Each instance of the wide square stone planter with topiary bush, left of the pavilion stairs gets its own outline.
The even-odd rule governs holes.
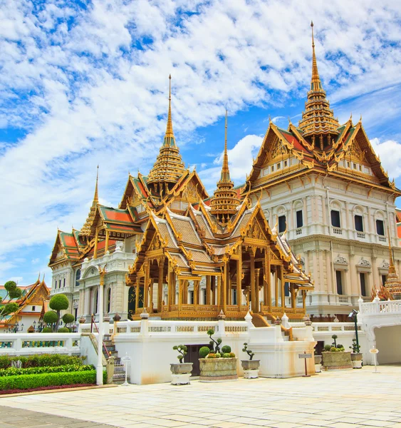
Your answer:
[[[209,347],[203,346],[199,350],[199,368],[201,382],[216,382],[221,380],[238,379],[236,374],[236,357],[231,347],[225,345],[220,350],[222,339],[214,340],[214,330],[207,331],[210,338]]]

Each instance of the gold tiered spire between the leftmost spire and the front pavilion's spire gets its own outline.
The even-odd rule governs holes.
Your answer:
[[[182,162],[179,149],[175,143],[174,132],[172,131],[171,74],[169,80],[169,110],[165,138],[160,148],[160,153],[157,155],[156,162],[147,178],[147,184],[152,195],[160,198],[162,193],[166,194],[171,190],[175,183],[177,183],[177,180],[187,171]]]

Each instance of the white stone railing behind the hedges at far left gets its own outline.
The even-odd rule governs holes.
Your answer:
[[[0,355],[80,354],[80,333],[0,334]]]

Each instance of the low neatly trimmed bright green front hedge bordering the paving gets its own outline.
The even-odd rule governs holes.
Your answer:
[[[104,376],[103,376],[104,378]],[[34,389],[72,384],[95,384],[96,370],[68,373],[19,374],[0,377],[0,390]]]

